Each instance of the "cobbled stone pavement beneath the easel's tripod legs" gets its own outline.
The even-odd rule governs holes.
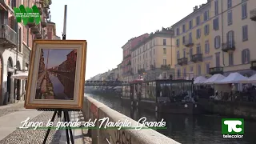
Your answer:
[[[46,135],[46,130],[17,129],[21,122],[30,117],[30,122],[43,122],[44,126],[52,117],[54,112],[42,112],[37,110],[26,110],[23,108],[24,102],[16,103],[8,106],[0,106],[0,144],[41,144]],[[74,120],[75,114],[71,112],[70,118]],[[74,114],[74,115],[72,115]],[[63,114],[62,114],[63,115]],[[58,122],[57,116],[54,119],[54,126]],[[64,133],[62,133],[64,131]],[[81,133],[81,129],[74,130],[74,139],[76,144],[90,144],[91,139],[85,138]],[[66,138],[65,130],[50,130],[46,143],[58,144],[63,143]],[[87,141],[82,141],[86,139]],[[65,142],[66,143],[66,142]]]

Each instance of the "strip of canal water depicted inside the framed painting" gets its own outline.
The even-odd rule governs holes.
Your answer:
[[[59,81],[57,75],[49,73],[49,78],[54,86],[54,99],[67,99],[67,96],[64,93],[64,86],[62,85],[62,82]]]

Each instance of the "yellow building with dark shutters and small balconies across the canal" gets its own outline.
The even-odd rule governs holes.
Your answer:
[[[175,78],[191,79],[209,73],[214,54],[211,11],[210,1],[195,6],[191,14],[172,26],[177,54]]]

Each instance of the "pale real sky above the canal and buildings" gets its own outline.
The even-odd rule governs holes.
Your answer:
[[[66,39],[87,41],[86,79],[116,68],[130,38],[170,27],[207,0],[53,0],[51,22],[62,36],[67,5]]]

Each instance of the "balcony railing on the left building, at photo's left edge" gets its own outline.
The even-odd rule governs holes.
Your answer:
[[[0,38],[6,38],[7,41],[17,45],[17,33],[8,25],[2,25],[0,29]]]

